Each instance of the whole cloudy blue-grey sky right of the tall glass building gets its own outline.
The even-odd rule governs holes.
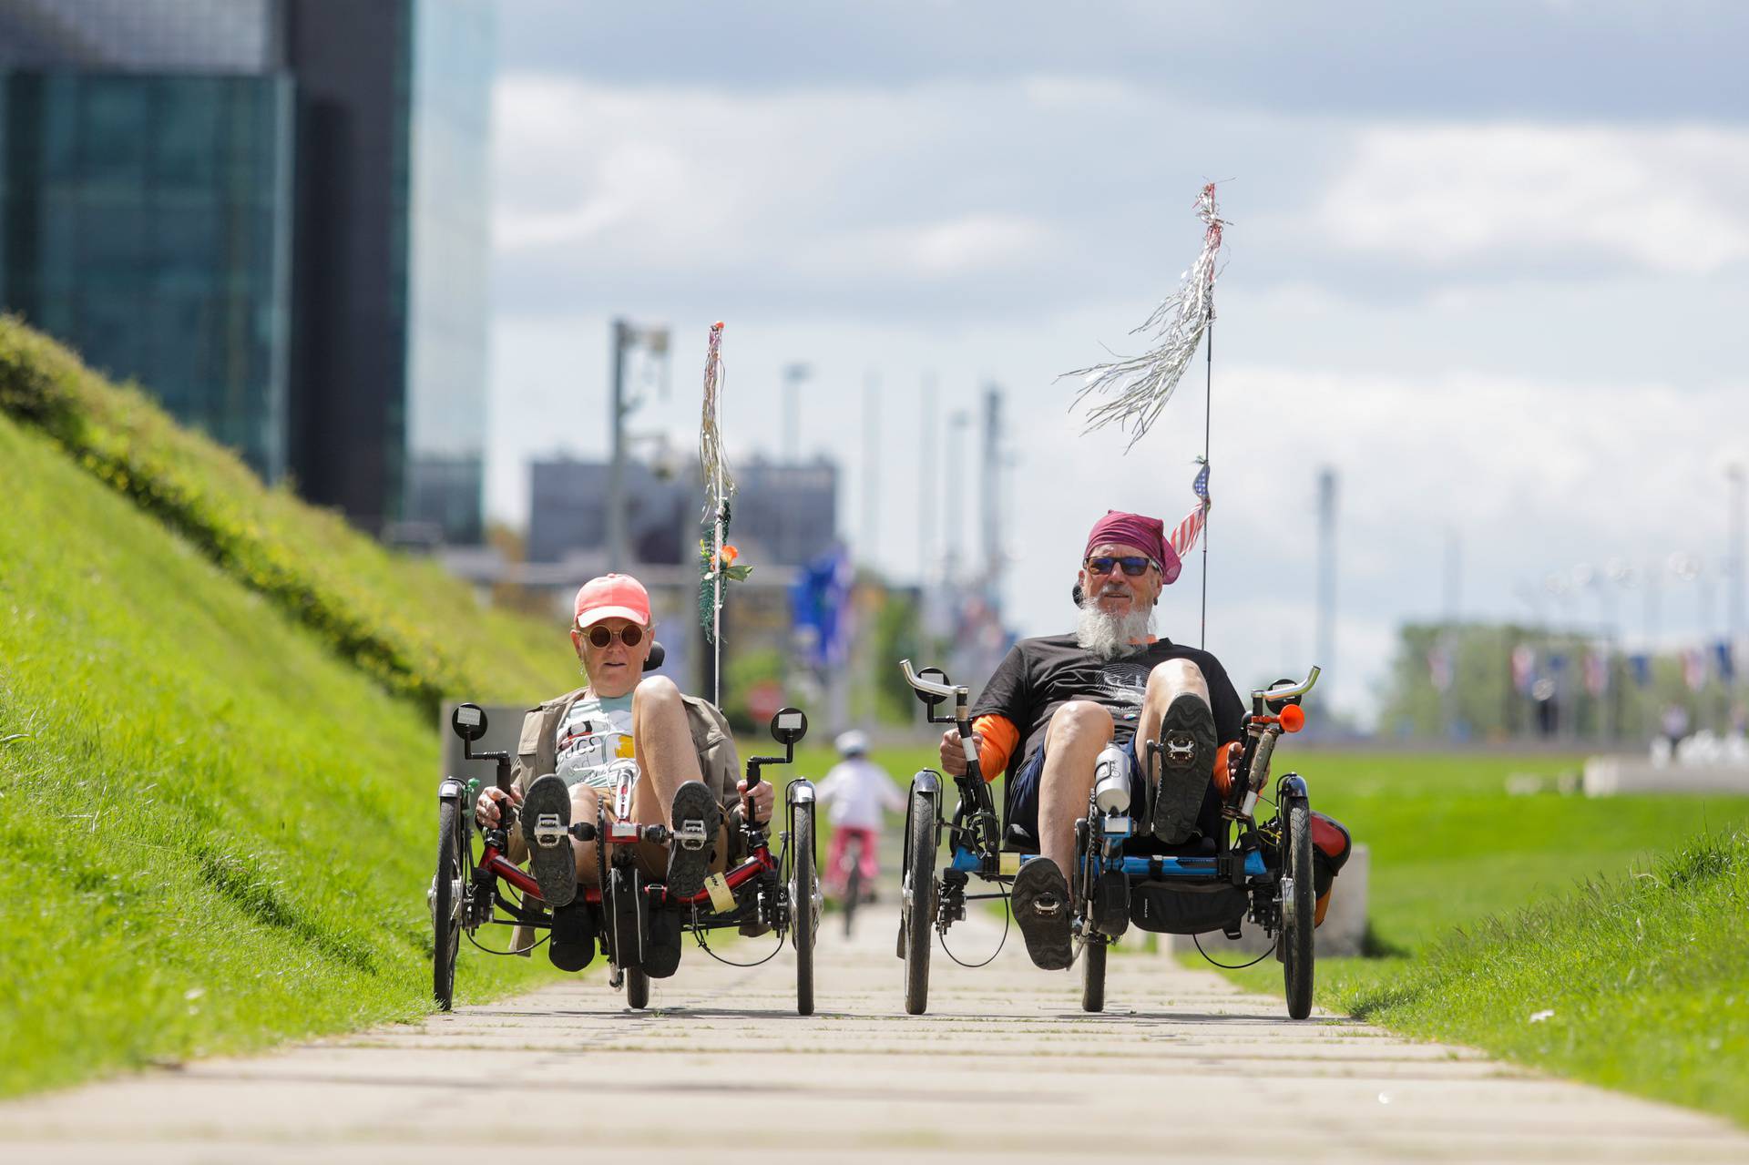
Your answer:
[[[504,3],[491,513],[525,520],[528,457],[607,451],[616,315],[673,329],[672,392],[633,427],[691,450],[721,318],[731,458],[780,453],[808,364],[801,451],[838,458],[843,530],[899,579],[939,565],[941,492],[974,479],[943,464],[974,453],[948,418],[999,385],[1009,619],[1060,631],[1093,518],[1189,507],[1203,383],[1198,359],[1125,455],[1056,374],[1140,350],[1217,180],[1209,642],[1235,679],[1312,661],[1326,465],[1320,663],[1359,715],[1397,624],[1452,605],[1718,637],[1749,460],[1749,9],[1425,7]],[[1613,560],[1634,589],[1548,588]],[[1196,556],[1163,633],[1196,642],[1200,582]]]

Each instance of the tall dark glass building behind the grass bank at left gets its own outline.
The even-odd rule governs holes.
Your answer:
[[[0,0],[0,306],[269,481],[477,542],[484,0]]]

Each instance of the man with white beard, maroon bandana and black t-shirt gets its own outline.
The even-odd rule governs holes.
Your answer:
[[[1126,754],[1130,803],[1154,806],[1132,852],[1182,852],[1219,829],[1224,782],[1214,777],[1219,768],[1224,778],[1228,750],[1217,745],[1240,738],[1245,707],[1212,654],[1153,635],[1154,602],[1179,570],[1158,518],[1107,511],[1081,556],[1076,631],[1014,644],[972,705],[983,775],[1007,770],[1009,826],[1039,843],[1041,857],[1014,876],[1011,903],[1041,967],[1072,959],[1063,871],[1074,866],[1074,822],[1086,813],[1105,745]],[[1163,752],[1160,771],[1144,771],[1137,740],[1172,742],[1177,759]],[[965,771],[955,731],[941,736],[941,766]]]

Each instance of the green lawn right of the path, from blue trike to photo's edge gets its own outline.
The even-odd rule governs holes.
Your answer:
[[[1284,766],[1371,847],[1383,957],[1320,960],[1320,1006],[1749,1121],[1749,1057],[1725,1055],[1749,1041],[1749,798],[1562,796],[1576,757]],[[1544,792],[1509,796],[1513,773]],[[1231,978],[1282,990],[1275,960]]]

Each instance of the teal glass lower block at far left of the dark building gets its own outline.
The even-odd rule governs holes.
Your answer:
[[[0,87],[0,301],[278,479],[289,80],[16,70]]]

